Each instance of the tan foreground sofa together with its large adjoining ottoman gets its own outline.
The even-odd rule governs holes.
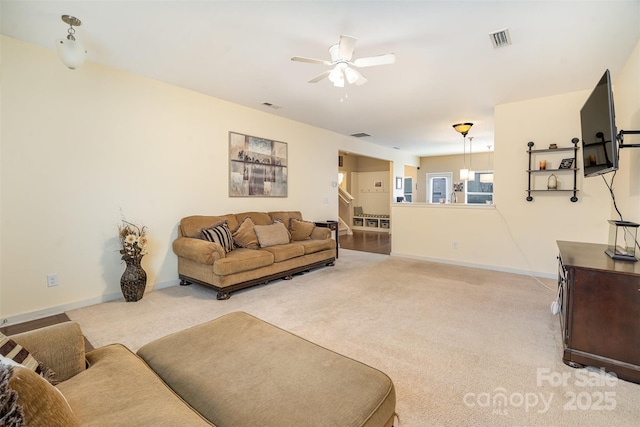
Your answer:
[[[137,354],[120,344],[85,354],[74,322],[11,338],[60,381],[13,368],[28,426],[389,427],[395,417],[385,374],[243,312]]]

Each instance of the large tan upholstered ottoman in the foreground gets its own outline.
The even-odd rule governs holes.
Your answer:
[[[391,379],[249,314],[236,312],[138,351],[218,427],[391,426]]]

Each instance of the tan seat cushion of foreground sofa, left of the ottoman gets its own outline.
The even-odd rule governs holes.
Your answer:
[[[83,426],[211,426],[125,346],[100,347],[87,360],[58,385]]]

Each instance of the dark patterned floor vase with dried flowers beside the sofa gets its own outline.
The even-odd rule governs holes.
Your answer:
[[[120,278],[120,288],[125,301],[135,302],[142,299],[147,287],[147,273],[140,265],[142,257],[147,254],[147,227],[138,227],[123,220],[118,231],[122,245],[120,254],[127,264]]]

